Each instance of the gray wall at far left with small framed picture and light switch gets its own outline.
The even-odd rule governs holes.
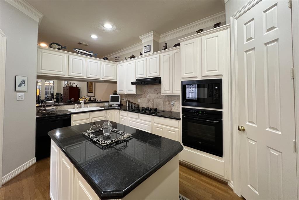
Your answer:
[[[36,21],[0,1],[0,28],[7,37],[2,176],[35,157]],[[16,101],[15,76],[28,77],[25,100]]]

